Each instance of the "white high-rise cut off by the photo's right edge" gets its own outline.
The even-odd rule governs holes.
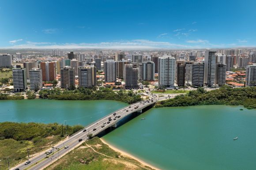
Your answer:
[[[246,67],[245,85],[256,86],[256,63]]]

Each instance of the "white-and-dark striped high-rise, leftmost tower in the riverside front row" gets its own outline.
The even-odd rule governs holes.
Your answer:
[[[14,92],[23,92],[27,89],[26,69],[13,68],[12,78]]]

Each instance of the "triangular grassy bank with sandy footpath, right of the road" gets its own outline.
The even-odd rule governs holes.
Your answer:
[[[88,147],[87,144],[96,152]],[[143,165],[135,159],[120,155],[119,152],[115,152],[102,143],[98,137],[94,137],[69,152],[45,170],[151,170],[150,167],[141,166]]]

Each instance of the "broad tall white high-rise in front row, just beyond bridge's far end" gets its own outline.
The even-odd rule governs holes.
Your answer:
[[[174,87],[175,58],[163,55],[158,59],[158,85],[160,87]]]

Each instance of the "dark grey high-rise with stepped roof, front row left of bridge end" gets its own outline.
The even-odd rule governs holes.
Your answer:
[[[124,65],[125,89],[137,89],[139,68],[133,68],[132,64]]]

